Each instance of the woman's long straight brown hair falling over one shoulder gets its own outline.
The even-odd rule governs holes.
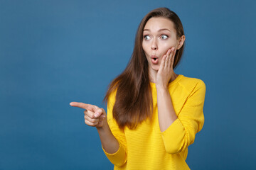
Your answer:
[[[124,72],[111,81],[104,98],[104,101],[108,101],[110,94],[117,89],[112,113],[120,129],[126,126],[134,129],[146,118],[152,118],[153,101],[148,72],[149,64],[142,48],[144,26],[152,17],[169,18],[174,23],[177,38],[184,35],[180,19],[169,8],[156,8],[144,16],[137,30],[132,57]],[[183,47],[184,45],[176,51],[174,68],[181,60]]]

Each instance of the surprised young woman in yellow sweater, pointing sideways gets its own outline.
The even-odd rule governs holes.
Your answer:
[[[176,74],[185,35],[173,11],[156,8],[139,24],[127,68],[107,91],[103,108],[84,108],[114,169],[189,169],[188,146],[203,128],[206,85]],[[107,117],[107,119],[106,119]]]

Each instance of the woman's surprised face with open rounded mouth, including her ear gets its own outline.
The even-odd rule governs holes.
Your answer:
[[[168,18],[153,17],[146,22],[142,48],[149,62],[149,72],[159,70],[162,57],[171,47],[177,50],[181,48],[183,45],[181,39],[177,40],[174,23]]]

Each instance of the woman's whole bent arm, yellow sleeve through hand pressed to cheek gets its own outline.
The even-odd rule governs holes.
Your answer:
[[[167,52],[156,77],[159,127],[166,152],[176,154],[193,144],[196,133],[203,128],[203,104],[206,85],[198,80],[186,97],[181,111],[176,114],[169,94],[168,82],[173,72],[175,52]],[[172,60],[171,60],[172,59]],[[177,116],[178,115],[178,116]]]

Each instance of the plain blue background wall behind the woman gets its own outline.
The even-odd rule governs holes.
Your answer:
[[[0,169],[113,169],[71,101],[106,108],[142,18],[166,6],[186,48],[177,74],[206,83],[191,169],[254,169],[255,1],[0,1]]]

